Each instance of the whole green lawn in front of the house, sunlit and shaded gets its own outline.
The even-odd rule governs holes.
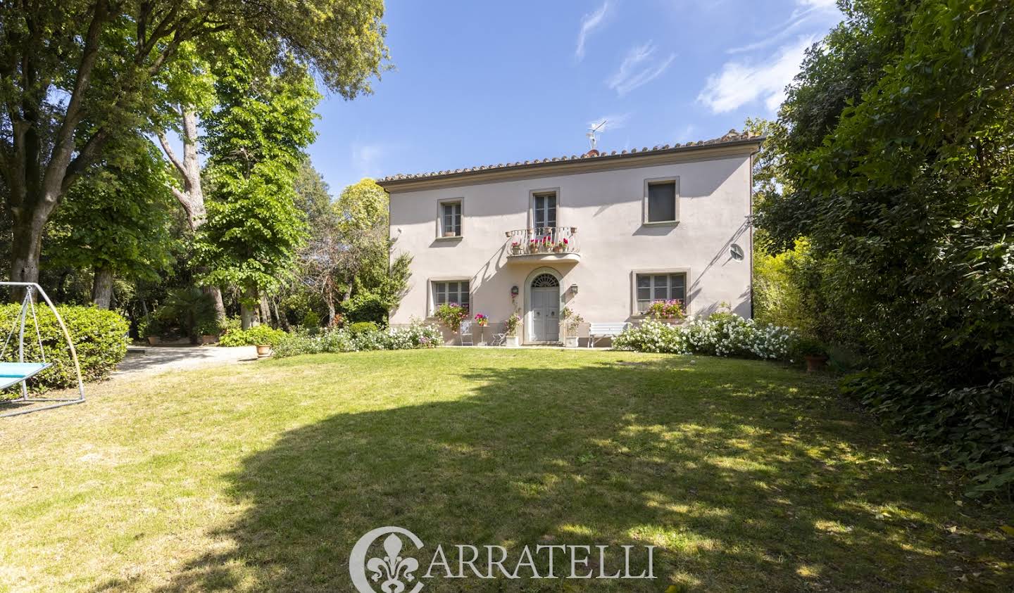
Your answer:
[[[828,380],[771,363],[441,349],[89,395],[0,421],[0,590],[350,591],[351,546],[384,525],[432,546],[659,546],[653,583],[424,592],[1014,587],[1014,509],[962,506]]]

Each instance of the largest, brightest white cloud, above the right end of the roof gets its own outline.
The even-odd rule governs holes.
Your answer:
[[[720,73],[708,77],[698,100],[716,114],[755,100],[763,100],[769,110],[776,110],[785,98],[785,86],[799,72],[803,53],[813,40],[813,36],[800,38],[760,62],[726,62]]]

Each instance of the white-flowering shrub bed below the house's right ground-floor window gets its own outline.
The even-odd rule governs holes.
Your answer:
[[[614,350],[707,354],[736,358],[790,360],[798,340],[786,327],[760,324],[734,313],[715,313],[705,319],[690,317],[682,325],[646,319],[613,340]]]

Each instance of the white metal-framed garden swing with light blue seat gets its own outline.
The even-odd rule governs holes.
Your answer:
[[[21,396],[16,399],[6,399],[0,400],[2,403],[38,403],[38,402],[52,402],[49,405],[41,405],[38,407],[30,407],[27,410],[16,410],[14,412],[8,412],[6,414],[0,414],[0,418],[6,418],[9,416],[19,416],[22,414],[29,414],[31,412],[39,412],[42,410],[52,410],[54,407],[60,407],[62,405],[71,405],[74,403],[80,403],[84,401],[84,382],[81,380],[81,367],[77,362],[77,352],[74,350],[74,342],[70,339],[70,332],[67,331],[67,325],[64,324],[63,317],[60,316],[60,312],[53,305],[53,301],[43,290],[43,287],[39,286],[33,282],[0,282],[0,286],[10,286],[10,287],[21,287],[24,288],[24,298],[21,300],[21,310],[14,317],[14,322],[11,324],[10,330],[7,332],[7,339],[4,340],[3,347],[0,348],[0,361],[3,361],[7,355],[7,348],[11,347],[11,355],[13,356],[13,347],[11,346],[11,339],[14,337],[14,332],[17,332],[17,362],[0,362],[0,390],[6,389],[8,387],[13,387],[20,383],[21,385]],[[53,315],[57,319],[57,323],[60,325],[61,331],[63,331],[64,338],[67,340],[67,347],[70,349],[70,358],[74,363],[74,372],[77,374],[77,397],[31,397],[28,395],[28,387],[26,381],[39,373],[45,371],[46,369],[53,366],[53,363],[46,360],[46,349],[43,347],[43,335],[39,329],[39,317],[35,314],[35,299],[34,294],[39,293],[39,296],[46,301],[46,305],[49,306],[50,310],[53,311]],[[39,344],[39,359],[32,361],[24,360],[24,325],[31,315],[32,325],[35,328],[35,339]]]

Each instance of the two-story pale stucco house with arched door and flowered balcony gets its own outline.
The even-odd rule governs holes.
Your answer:
[[[749,317],[751,161],[762,140],[733,130],[380,179],[395,252],[413,256],[390,322],[457,302],[486,314],[490,331],[517,311],[521,343],[554,344],[564,307],[587,322],[637,322],[653,301],[678,299],[691,315],[727,303]]]

